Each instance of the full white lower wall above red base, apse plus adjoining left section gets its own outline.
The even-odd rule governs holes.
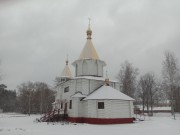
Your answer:
[[[88,100],[80,101],[81,98],[72,99],[72,109],[69,109],[70,117],[85,118],[132,118],[133,102],[122,100]],[[98,109],[98,102],[104,102],[104,109]]]

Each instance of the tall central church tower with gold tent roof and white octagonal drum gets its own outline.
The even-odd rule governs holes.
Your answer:
[[[86,31],[87,41],[79,56],[79,59],[74,61],[72,65],[75,67],[75,76],[103,76],[103,67],[106,63],[99,59],[96,49],[91,41],[92,30],[89,26]]]

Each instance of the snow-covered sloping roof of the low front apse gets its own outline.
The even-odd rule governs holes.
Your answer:
[[[95,100],[95,99],[118,99],[118,100],[134,100],[133,98],[123,94],[122,92],[110,87],[103,85],[84,100]]]

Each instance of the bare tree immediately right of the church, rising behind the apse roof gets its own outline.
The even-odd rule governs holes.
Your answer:
[[[125,61],[120,68],[118,79],[121,85],[121,91],[130,97],[134,97],[136,89],[136,78],[138,69],[133,67],[131,63]]]

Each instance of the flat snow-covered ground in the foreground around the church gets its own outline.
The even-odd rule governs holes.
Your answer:
[[[155,114],[132,124],[91,125],[34,122],[40,115],[0,114],[0,135],[180,135],[180,114]]]

